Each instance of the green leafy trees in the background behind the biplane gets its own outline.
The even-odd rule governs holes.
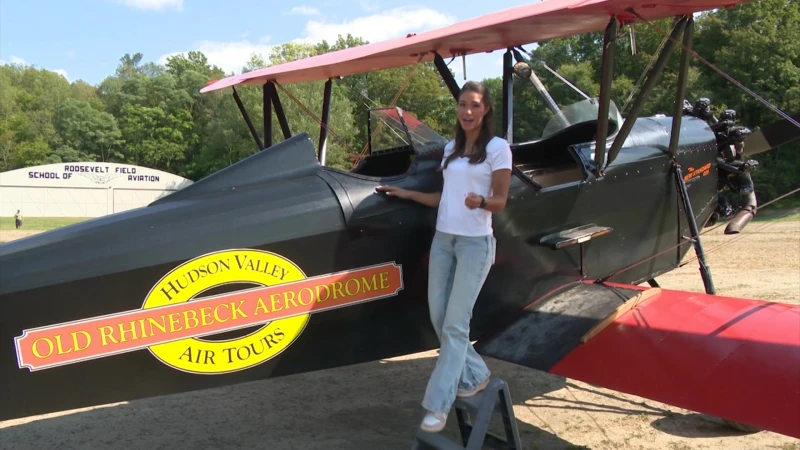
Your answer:
[[[672,20],[635,26],[635,52],[629,30],[616,41],[612,100],[625,115],[640,77],[669,34]],[[624,34],[623,34],[624,31]],[[537,61],[543,61],[590,96],[599,95],[602,32],[541,42],[531,54],[537,75],[560,106],[582,99]],[[242,71],[363,45],[352,35],[336,42],[287,43],[269,55],[252,55]],[[790,114],[800,110],[800,2],[761,0],[695,17],[693,47],[711,64]],[[672,53],[642,115],[672,114],[680,48]],[[332,89],[327,164],[349,169],[348,156],[366,143],[368,110],[391,104],[411,112],[435,131],[452,135],[455,102],[432,63],[358,74],[335,80]],[[200,94],[209,81],[227,75],[204,54],[188,52],[166,64],[144,61],[141,53],[125,54],[113,75],[96,86],[68,82],[61,75],[31,66],[0,66],[0,171],[38,164],[105,161],[137,164],[192,180],[203,178],[257,151],[229,89]],[[493,93],[501,133],[502,79],[483,80]],[[319,117],[324,82],[282,86]],[[241,100],[263,132],[262,93],[238,88]],[[278,90],[291,132],[305,131],[316,142],[319,122]],[[743,89],[692,58],[687,99],[708,97],[718,111],[733,108],[751,128],[780,119]],[[527,80],[514,80],[514,141],[541,136],[551,117],[546,104]],[[273,115],[273,142],[283,140]],[[797,187],[800,144],[792,143],[754,157],[760,202]]]

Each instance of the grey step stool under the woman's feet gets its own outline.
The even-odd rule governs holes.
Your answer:
[[[418,428],[412,450],[478,450],[484,444],[492,449],[522,450],[514,407],[505,381],[492,378],[486,389],[478,394],[469,398],[456,397],[453,408],[463,446],[440,433],[429,433]],[[499,412],[503,419],[505,439],[489,431],[489,422],[495,412]],[[474,421],[470,423],[467,417],[474,417]]]

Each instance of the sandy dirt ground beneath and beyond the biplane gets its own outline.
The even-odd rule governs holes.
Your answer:
[[[800,304],[800,220],[753,222],[740,235],[746,237],[716,250],[735,238],[723,229],[703,236],[720,295]],[[703,290],[696,263],[658,281],[664,288]],[[0,422],[0,448],[408,449],[435,357],[426,352]],[[509,382],[525,449],[800,449],[797,439],[735,431],[662,403],[494,359],[487,363]],[[445,433],[456,436],[454,416]]]

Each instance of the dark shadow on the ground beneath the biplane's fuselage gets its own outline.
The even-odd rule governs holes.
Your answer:
[[[394,359],[235,386],[149,398],[39,418],[0,429],[14,449],[268,448],[409,449],[433,356]],[[515,405],[558,390],[564,379],[487,359]],[[499,420],[492,431],[502,433]],[[526,449],[571,446],[517,420]],[[457,439],[455,414],[443,431]]]

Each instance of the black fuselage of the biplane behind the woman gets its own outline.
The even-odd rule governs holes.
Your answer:
[[[609,145],[619,125],[612,121]],[[669,159],[670,127],[668,117],[636,119],[621,152],[601,178],[594,176],[596,120],[513,144],[515,168],[509,199],[505,210],[494,214],[497,256],[475,306],[473,338],[570,283],[611,276],[611,281],[637,284],[678,265],[688,246],[677,245],[689,231],[685,215],[679,213],[682,207]],[[436,209],[389,198],[375,188],[394,184],[437,189],[442,178],[436,169],[444,142],[374,152],[346,172],[320,165],[313,143],[300,134],[145,208],[3,245],[0,384],[13,389],[3,390],[0,419],[436,348],[426,295],[426,262]],[[687,168],[697,223],[706,223],[718,195],[717,143],[709,125],[684,117],[678,152]],[[683,218],[681,223],[679,218]],[[593,237],[576,243],[565,234],[569,230],[574,236]],[[570,243],[575,245],[564,246]],[[203,366],[220,362],[235,365],[237,359],[246,360],[259,349],[277,344],[280,330],[272,330],[258,344],[261,347],[251,342],[249,349],[237,348],[235,338],[254,333],[261,324],[206,337],[227,342],[228,349],[173,355],[182,357],[182,367],[170,367],[151,349],[120,351],[45,370],[21,368],[25,362],[19,353],[22,346],[15,339],[30,330],[141,310],[165,274],[198,255],[231,249],[280,255],[306,277],[394,263],[402,273],[401,286],[396,286],[396,295],[311,314],[296,340],[272,358],[213,376],[197,375],[194,369],[202,371]],[[175,292],[181,287],[172,286]],[[233,280],[196,298],[253,286],[252,281]],[[128,339],[137,330],[139,337],[147,334],[146,323],[139,323],[141,328],[130,323]],[[121,327],[106,329],[102,345],[124,340]],[[149,330],[154,332],[152,324]],[[66,331],[60,340],[50,336],[49,341],[36,344],[37,352],[53,357],[63,353],[69,358],[89,347],[81,336],[73,338]],[[103,351],[99,342],[91,345]],[[546,370],[563,349],[545,346],[542,352],[536,365]]]

